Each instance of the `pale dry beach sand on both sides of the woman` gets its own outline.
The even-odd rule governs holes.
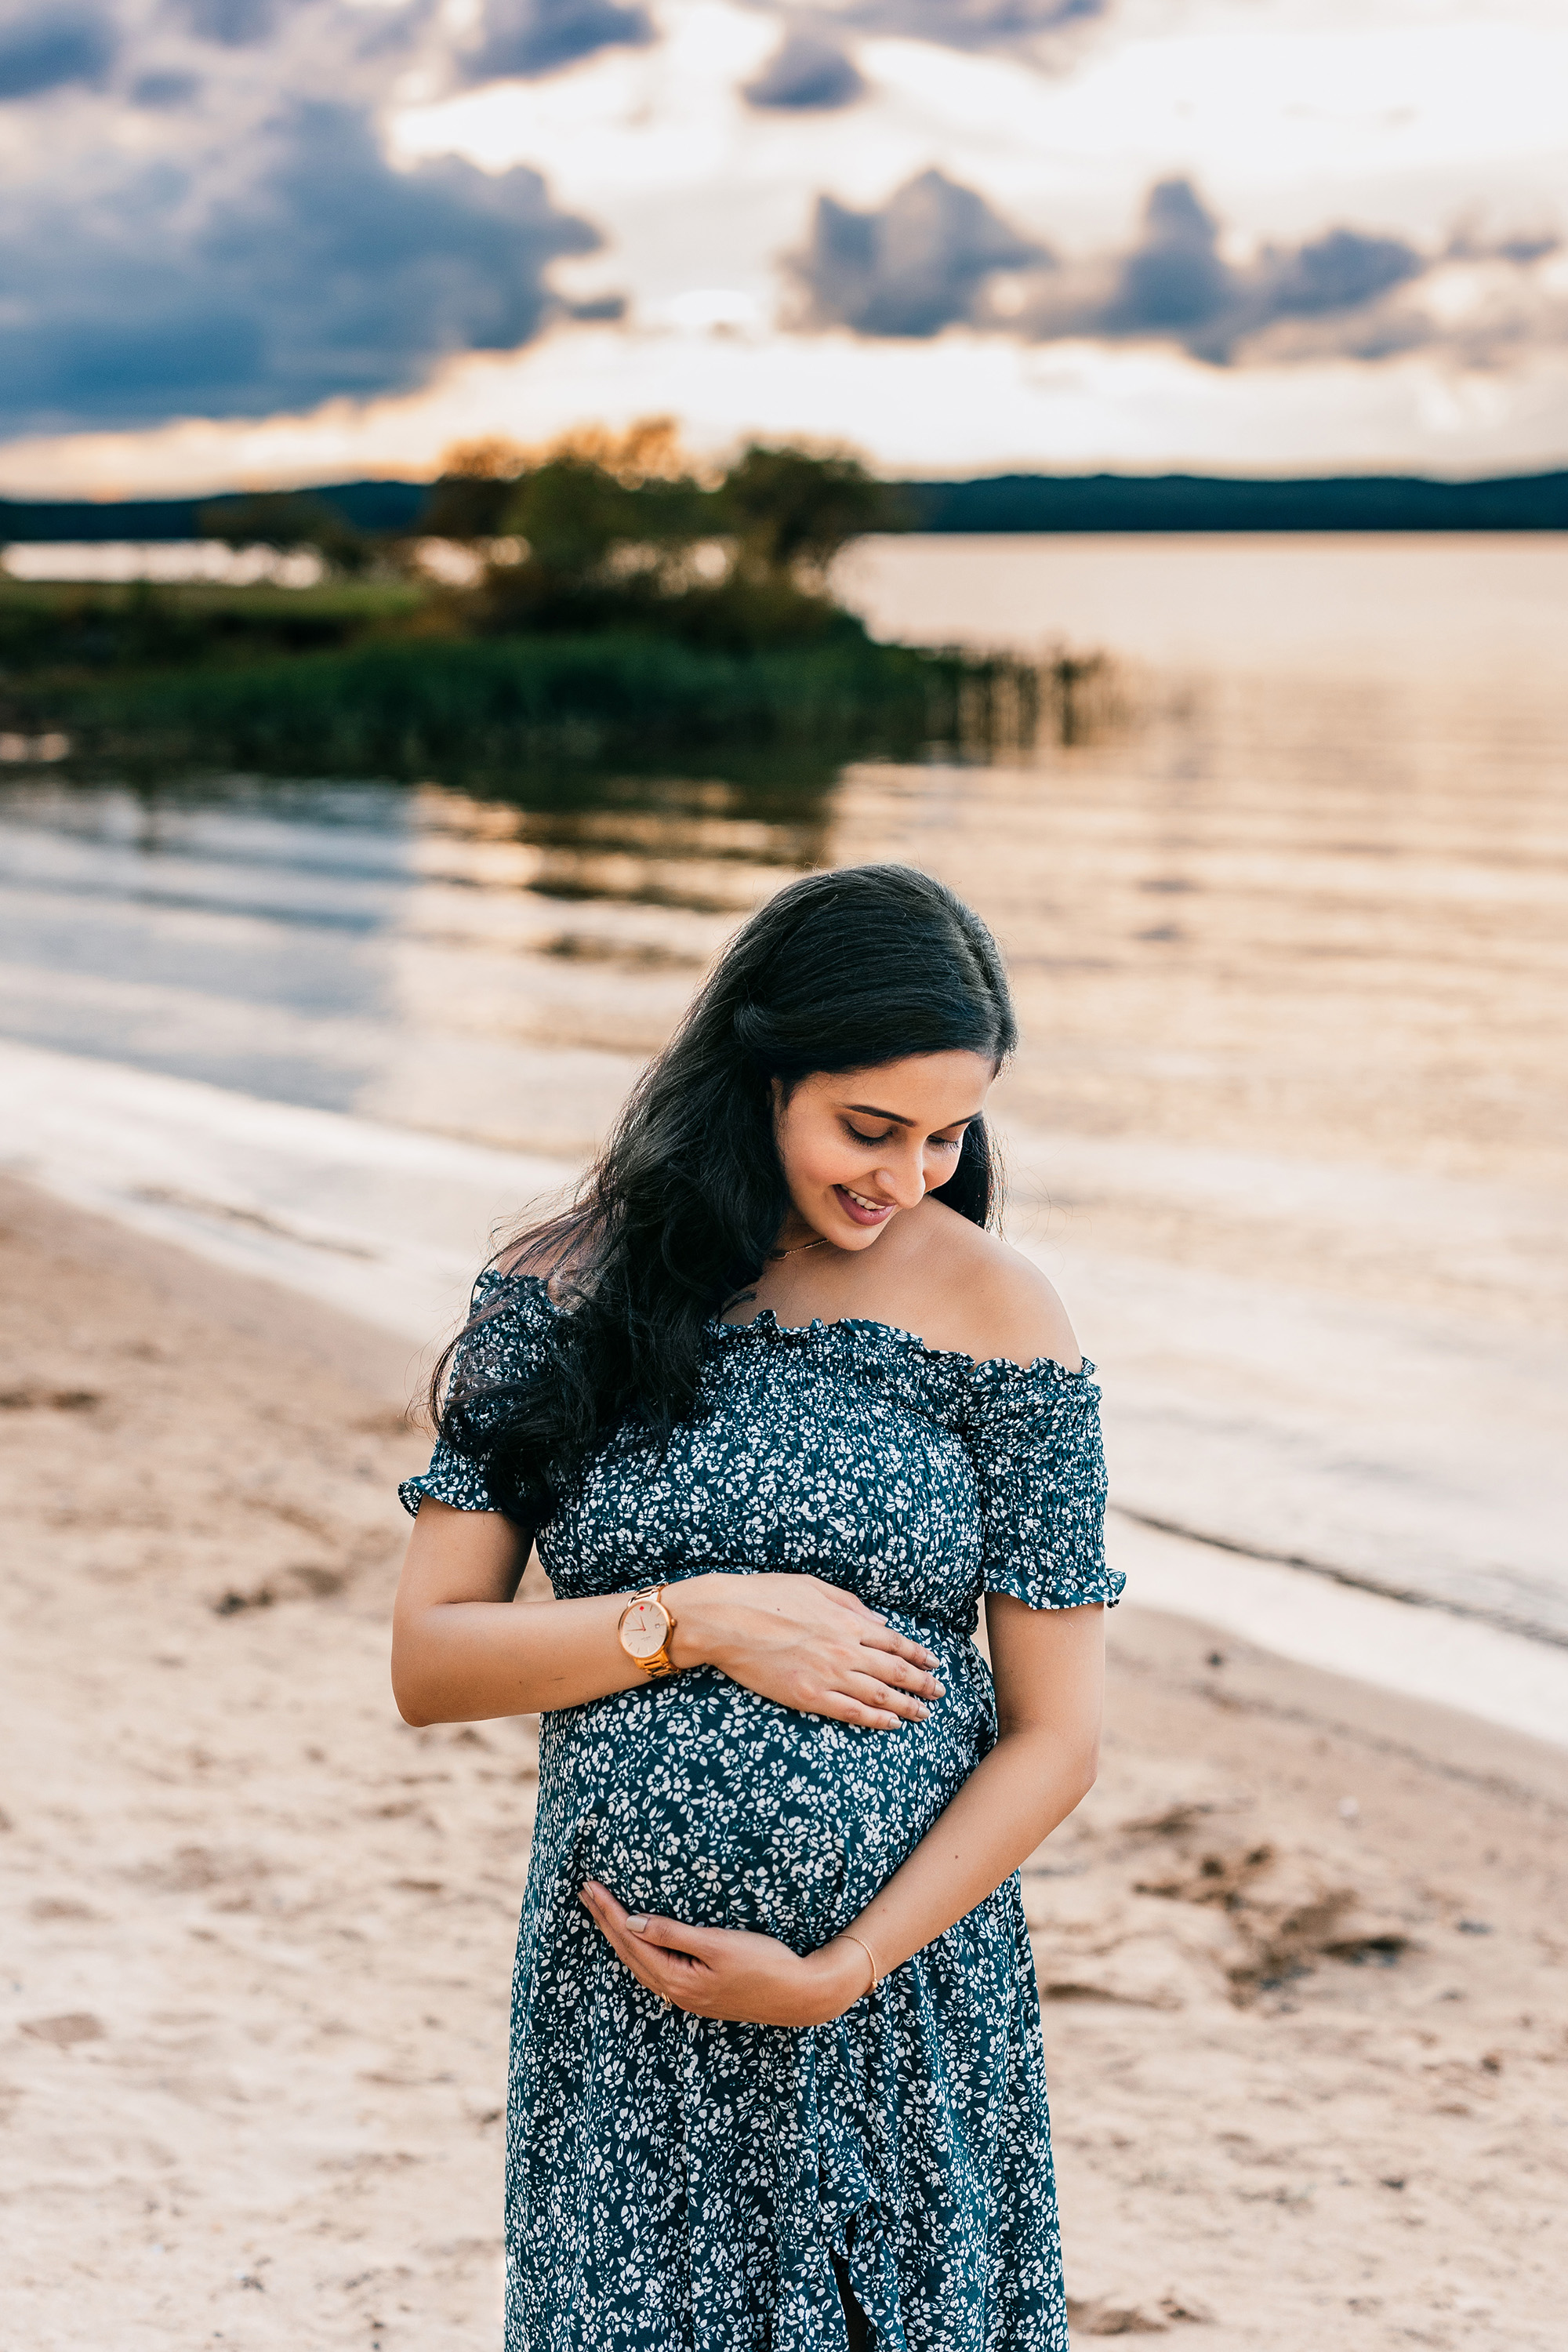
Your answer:
[[[489,2352],[534,1736],[388,1696],[416,1367],[0,1225],[0,2343]],[[1566,1825],[1568,1755],[1112,1618],[1027,1875],[1079,2336],[1561,2352]]]

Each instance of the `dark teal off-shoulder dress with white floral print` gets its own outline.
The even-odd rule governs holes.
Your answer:
[[[465,1385],[557,1317],[489,1270]],[[531,1529],[559,1597],[710,1569],[858,1592],[938,1656],[922,1724],[860,1731],[717,1668],[543,1717],[512,1985],[508,2352],[844,2352],[835,2258],[877,2352],[1065,2352],[1039,1999],[1018,1877],[832,2025],[665,2009],[578,1903],[846,1926],[997,1736],[983,1590],[1114,1602],[1093,1367],[973,1364],[877,1322],[715,1322],[698,1409],[628,1425]],[[418,1510],[505,1508],[437,1444]],[[512,1505],[510,1517],[520,1517]],[[679,1590],[672,1595],[679,1611]]]

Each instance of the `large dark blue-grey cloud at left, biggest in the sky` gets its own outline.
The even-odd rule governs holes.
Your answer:
[[[294,103],[240,158],[141,165],[113,205],[12,205],[0,428],[247,416],[416,386],[510,350],[545,268],[599,238],[536,172],[395,172],[362,106]]]

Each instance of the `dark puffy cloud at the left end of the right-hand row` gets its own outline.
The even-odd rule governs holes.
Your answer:
[[[922,172],[882,207],[816,202],[811,245],[792,263],[799,325],[858,334],[940,334],[976,315],[997,270],[1048,261],[985,198]]]

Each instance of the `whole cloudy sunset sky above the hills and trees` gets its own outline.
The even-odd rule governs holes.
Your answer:
[[[1568,461],[1568,0],[0,0],[0,487]]]

